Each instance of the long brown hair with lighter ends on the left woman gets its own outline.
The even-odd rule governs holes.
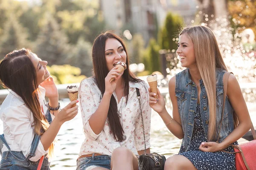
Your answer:
[[[23,99],[26,107],[33,114],[32,125],[35,126],[35,133],[42,135],[49,127],[49,123],[41,113],[36,70],[30,57],[31,51],[25,48],[7,54],[0,63],[0,80],[3,86],[11,89]],[[52,143],[49,148],[49,156],[52,155],[53,145]]]

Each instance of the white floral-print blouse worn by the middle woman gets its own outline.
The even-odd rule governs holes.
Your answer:
[[[143,112],[143,122],[145,126],[145,141],[146,147],[151,147],[150,139],[150,123],[151,123],[151,108],[148,104],[149,94],[148,85],[145,82],[129,82],[128,103],[125,105],[126,98],[122,97],[120,102],[117,102],[115,92],[113,93],[117,104],[117,109],[121,108],[122,124],[126,140],[116,142],[111,134],[108,118],[101,133],[98,135],[91,129],[88,120],[90,116],[97,110],[100,104],[101,91],[96,85],[95,80],[90,77],[81,82],[79,90],[79,104],[81,108],[81,116],[84,126],[85,140],[82,143],[79,156],[90,153],[101,153],[104,155],[112,154],[117,147],[127,147],[135,155],[138,155],[137,150],[144,150],[143,128],[140,116],[140,104],[137,99],[136,88],[140,89],[141,107]],[[123,100],[123,101],[122,101]]]

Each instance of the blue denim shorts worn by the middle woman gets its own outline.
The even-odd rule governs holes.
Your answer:
[[[108,155],[99,155],[99,156],[90,156],[80,158],[76,161],[77,167],[76,170],[91,170],[95,167],[104,167],[110,170],[110,161],[111,156]]]

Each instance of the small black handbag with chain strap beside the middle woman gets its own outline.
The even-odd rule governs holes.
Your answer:
[[[137,91],[137,98],[139,99],[139,103],[140,103],[140,90],[136,88],[136,91]],[[163,170],[166,157],[158,153],[146,153],[145,128],[143,123],[141,104],[140,104],[140,116],[141,116],[141,122],[142,122],[145,150],[144,150],[144,154],[139,156],[139,169],[140,170]]]

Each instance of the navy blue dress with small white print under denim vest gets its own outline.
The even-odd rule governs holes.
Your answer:
[[[195,122],[193,135],[186,151],[181,144],[179,155],[188,158],[198,170],[236,170],[235,154],[224,152],[203,152],[199,150],[202,142],[206,142],[207,138],[204,133],[204,127],[201,119],[200,105],[197,104],[195,110]],[[234,142],[233,144],[238,144]],[[225,149],[228,152],[234,152],[233,147]]]

